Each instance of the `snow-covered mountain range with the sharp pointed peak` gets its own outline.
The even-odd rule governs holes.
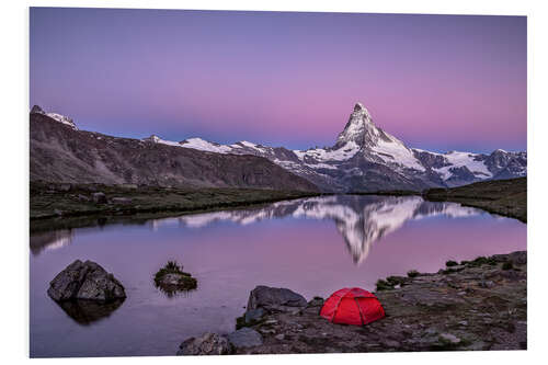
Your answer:
[[[201,138],[176,142],[157,136],[144,140],[216,153],[261,156],[324,191],[335,192],[416,191],[527,174],[526,152],[498,149],[490,155],[459,151],[437,153],[409,148],[377,127],[362,103],[355,104],[343,132],[329,148],[289,150],[246,140],[219,145]]]

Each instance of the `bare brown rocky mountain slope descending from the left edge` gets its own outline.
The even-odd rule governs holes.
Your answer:
[[[317,191],[260,156],[221,155],[78,130],[59,114],[31,111],[31,181]]]

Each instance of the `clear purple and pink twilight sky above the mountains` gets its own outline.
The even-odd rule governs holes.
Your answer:
[[[332,146],[355,102],[410,147],[526,149],[525,16],[31,8],[30,102],[80,129]]]

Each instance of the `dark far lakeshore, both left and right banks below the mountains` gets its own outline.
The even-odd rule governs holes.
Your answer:
[[[127,220],[145,221],[180,215],[244,209],[282,201],[334,195],[258,189],[183,189],[136,185],[32,182],[31,231],[102,226]],[[101,196],[103,195],[103,196]],[[383,191],[342,195],[421,196],[450,202],[527,223],[526,178],[480,182],[423,193]],[[99,198],[95,198],[99,196]],[[60,219],[61,218],[61,219]]]

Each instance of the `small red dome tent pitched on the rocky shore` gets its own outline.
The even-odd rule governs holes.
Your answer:
[[[385,317],[377,297],[358,287],[336,290],[321,307],[320,316],[333,323],[364,326]]]

